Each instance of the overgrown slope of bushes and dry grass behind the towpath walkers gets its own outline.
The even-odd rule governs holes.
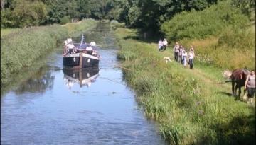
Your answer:
[[[255,69],[255,23],[231,1],[180,13],[161,25],[170,42],[196,49],[196,63],[223,69]]]

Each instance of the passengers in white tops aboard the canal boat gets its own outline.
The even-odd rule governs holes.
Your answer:
[[[71,37],[68,37],[67,40],[64,42],[65,47],[64,47],[64,54],[74,54],[74,53],[79,53],[81,51],[87,51],[87,52],[93,52],[93,50],[96,49],[96,43],[94,41],[90,42],[88,45],[87,43],[85,44],[80,44],[79,47],[75,47]]]

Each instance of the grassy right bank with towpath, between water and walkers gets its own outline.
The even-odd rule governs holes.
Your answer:
[[[117,28],[115,34],[124,77],[170,144],[255,144],[255,105],[235,101],[230,84],[217,83],[222,69],[166,64],[171,48],[159,52],[137,30]]]

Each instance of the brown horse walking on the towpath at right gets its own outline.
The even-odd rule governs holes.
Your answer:
[[[230,75],[228,75],[232,83],[232,94],[233,96],[236,96],[236,99],[240,98],[241,88],[242,86],[245,86],[245,81],[248,74],[250,74],[250,71],[248,71],[247,69],[235,69],[234,71],[232,71],[232,73],[230,73]],[[238,95],[236,95],[237,90]]]

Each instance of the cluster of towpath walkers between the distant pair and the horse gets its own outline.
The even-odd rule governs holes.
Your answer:
[[[178,42],[174,45],[174,59],[176,62],[180,62],[183,66],[186,66],[187,63],[190,66],[190,69],[193,69],[193,59],[195,57],[195,52],[193,46],[189,49],[189,52],[186,52],[186,49],[179,45]]]

